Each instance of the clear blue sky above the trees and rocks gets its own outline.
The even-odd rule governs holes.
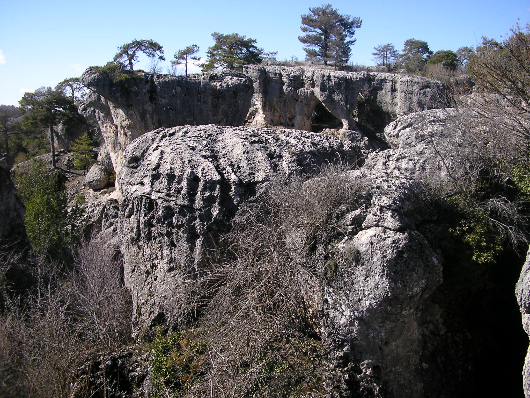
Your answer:
[[[473,46],[481,36],[506,36],[518,19],[530,20],[530,1],[383,0],[334,1],[342,14],[359,16],[351,61],[373,65],[373,48],[392,42],[399,50],[408,38],[428,42],[431,50]],[[213,45],[211,33],[238,33],[258,41],[278,59],[304,58],[301,14],[321,2],[130,0],[77,2],[0,0],[0,104],[17,105],[24,90],[55,86],[84,68],[104,65],[116,47],[133,39],[153,39],[164,46],[166,62],[190,44],[200,56]],[[147,58],[136,68],[146,67]],[[197,70],[196,70],[197,71]]]

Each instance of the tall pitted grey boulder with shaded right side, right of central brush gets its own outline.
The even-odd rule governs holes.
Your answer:
[[[427,396],[421,314],[442,266],[416,228],[431,215],[410,174],[414,160],[387,150],[348,172],[368,182],[367,200],[339,222],[346,237],[328,250],[336,265],[324,285],[323,342],[335,383],[359,396]]]

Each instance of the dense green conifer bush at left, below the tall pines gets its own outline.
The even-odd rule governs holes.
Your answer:
[[[33,248],[41,256],[59,253],[69,221],[60,174],[40,160],[31,161],[16,169],[13,181],[26,207],[25,226]]]

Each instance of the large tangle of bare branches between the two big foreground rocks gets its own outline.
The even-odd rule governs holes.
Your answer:
[[[191,395],[288,396],[321,384],[316,243],[336,239],[334,212],[356,206],[363,188],[337,167],[310,180],[274,178],[266,199],[236,218],[225,260],[192,282],[208,297],[197,333],[209,364]]]

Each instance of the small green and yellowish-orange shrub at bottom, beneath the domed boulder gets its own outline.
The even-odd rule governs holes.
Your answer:
[[[157,327],[153,345],[153,383],[158,392],[164,387],[187,390],[204,367],[205,344],[190,340],[182,333],[164,335]]]

